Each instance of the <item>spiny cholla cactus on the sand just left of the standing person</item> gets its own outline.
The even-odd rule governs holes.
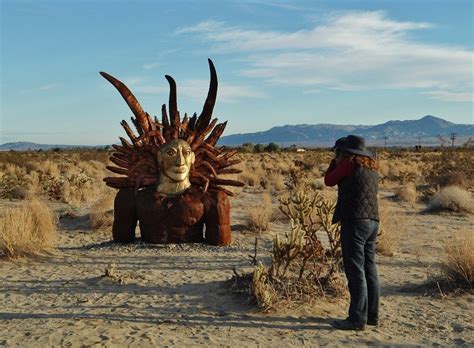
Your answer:
[[[335,203],[318,192],[296,185],[280,197],[280,210],[291,222],[284,236],[275,235],[268,269],[259,263],[252,274],[250,291],[263,310],[279,301],[307,303],[324,296],[344,295],[339,277],[341,242],[339,225],[332,224]],[[323,234],[323,235],[321,235]],[[327,236],[327,244],[321,238]]]

